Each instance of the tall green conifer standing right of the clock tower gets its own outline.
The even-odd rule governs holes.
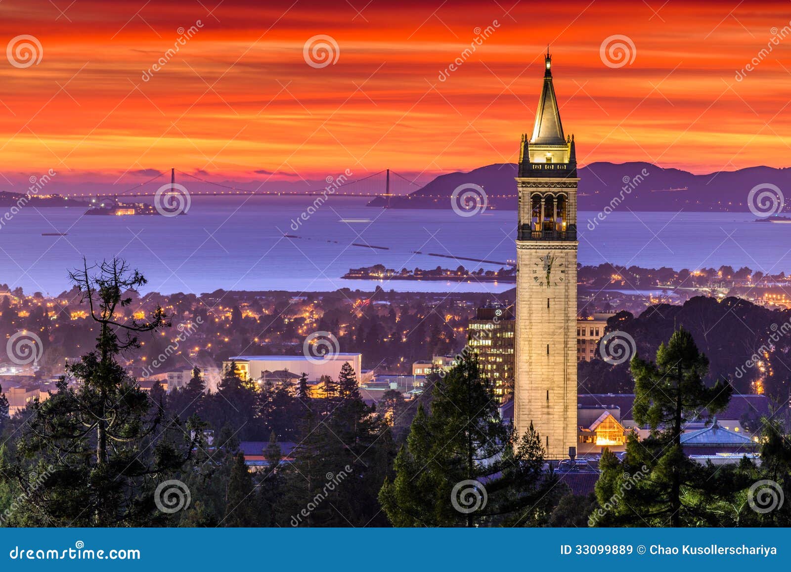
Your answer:
[[[707,420],[725,409],[731,397],[728,382],[703,383],[708,365],[683,328],[660,344],[656,363],[632,359],[634,420],[651,434],[642,441],[634,434],[628,437],[623,463],[611,453],[602,455],[596,496],[607,508],[604,522],[699,525],[714,518],[707,506],[732,495],[724,472],[698,465],[681,446],[689,420]],[[614,497],[623,502],[612,502]]]

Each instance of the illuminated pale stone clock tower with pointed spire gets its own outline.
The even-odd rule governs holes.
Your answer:
[[[577,446],[577,156],[563,134],[547,51],[532,137],[522,135],[517,193],[514,423],[547,457]]]

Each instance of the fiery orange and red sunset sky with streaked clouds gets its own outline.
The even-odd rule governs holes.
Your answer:
[[[59,189],[170,167],[271,189],[513,162],[547,43],[580,164],[785,167],[789,7],[3,0],[0,190],[50,169]]]

